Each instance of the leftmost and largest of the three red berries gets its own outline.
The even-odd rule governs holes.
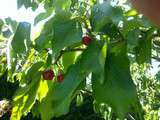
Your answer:
[[[44,80],[53,80],[53,78],[54,78],[53,70],[43,71],[42,75],[43,75]]]

